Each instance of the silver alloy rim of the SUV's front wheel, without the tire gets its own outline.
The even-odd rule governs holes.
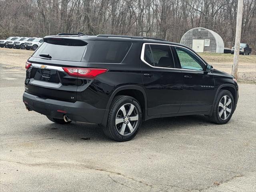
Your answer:
[[[225,95],[220,99],[218,113],[221,120],[226,120],[232,112],[232,100]]]

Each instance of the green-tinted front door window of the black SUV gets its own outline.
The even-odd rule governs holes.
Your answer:
[[[182,69],[200,70],[203,68],[194,53],[182,47],[175,47]]]

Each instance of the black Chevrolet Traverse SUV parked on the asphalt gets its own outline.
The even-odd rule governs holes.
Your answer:
[[[26,62],[23,102],[59,124],[100,124],[127,141],[142,121],[203,114],[227,123],[238,101],[236,79],[187,46],[116,35],[56,35]]]

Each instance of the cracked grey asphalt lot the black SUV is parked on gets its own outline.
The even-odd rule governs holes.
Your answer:
[[[144,122],[129,142],[94,124],[57,125],[22,103],[25,70],[0,69],[0,191],[256,191],[256,86],[240,84],[226,125]]]

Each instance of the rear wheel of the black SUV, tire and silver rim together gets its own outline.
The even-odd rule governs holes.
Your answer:
[[[116,96],[110,107],[107,126],[103,128],[109,138],[128,141],[138,133],[142,123],[142,110],[139,102],[130,96]]]

